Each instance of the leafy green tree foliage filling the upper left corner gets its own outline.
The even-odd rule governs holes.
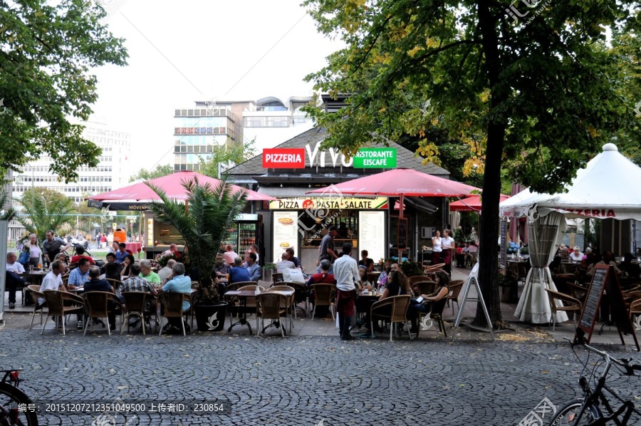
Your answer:
[[[0,175],[43,155],[68,181],[79,166],[98,165],[100,148],[70,118],[92,113],[90,68],[125,65],[123,39],[105,16],[85,0],[0,0]]]

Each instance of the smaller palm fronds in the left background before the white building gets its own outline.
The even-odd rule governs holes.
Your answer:
[[[58,232],[74,221],[73,202],[60,192],[46,188],[33,188],[24,192],[20,199],[24,209],[16,217],[29,233],[36,234],[38,241],[44,241],[46,232]]]

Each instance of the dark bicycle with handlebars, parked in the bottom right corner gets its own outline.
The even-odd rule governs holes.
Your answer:
[[[565,338],[567,341],[570,339]],[[605,378],[608,376],[610,368],[615,365],[623,374],[625,375],[635,375],[635,370],[641,371],[640,364],[630,364],[630,359],[626,358],[612,358],[608,353],[602,350],[598,350],[589,346],[585,343],[585,337],[582,330],[577,330],[577,338],[574,342],[570,341],[570,346],[572,347],[573,353],[578,358],[578,354],[574,350],[575,346],[583,346],[588,350],[588,359],[583,363],[583,371],[588,368],[588,363],[590,361],[590,352],[596,353],[603,360],[598,361],[594,364],[594,368],[590,373],[590,378],[586,378],[581,372],[579,379],[579,385],[583,389],[585,394],[583,398],[578,398],[572,402],[566,404],[561,410],[559,410],[556,415],[552,418],[550,422],[551,426],[560,426],[560,425],[586,425],[586,426],[598,426],[598,425],[627,425],[628,420],[632,414],[636,413],[641,420],[641,411],[635,408],[634,402],[630,400],[624,400],[608,385],[605,384]],[[580,358],[579,358],[580,359]],[[600,368],[601,365],[604,365],[603,375],[598,378],[595,378],[595,373]],[[590,388],[590,379],[595,380],[595,388]],[[605,395],[604,390],[607,391],[610,395],[613,395],[619,402],[622,403],[620,407],[616,410],[610,404],[610,400]],[[612,399],[612,398],[610,398]],[[603,410],[605,409],[606,415],[604,415]],[[610,423],[608,423],[610,422]],[[633,420],[634,423],[639,422],[639,420]]]

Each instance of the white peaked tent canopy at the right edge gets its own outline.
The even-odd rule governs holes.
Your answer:
[[[501,202],[502,216],[527,216],[535,209],[540,215],[558,211],[596,219],[641,220],[641,167],[628,160],[616,145],[603,145],[603,152],[579,170],[568,191],[539,194],[525,189]]]

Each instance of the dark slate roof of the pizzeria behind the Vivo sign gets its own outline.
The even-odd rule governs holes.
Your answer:
[[[302,148],[305,147],[307,144],[316,144],[318,141],[322,141],[325,139],[327,136],[327,132],[323,128],[312,128],[306,132],[301,133],[300,135],[296,137],[292,137],[290,140],[287,140],[286,142],[281,143],[281,145],[276,146],[277,148]],[[401,145],[398,145],[396,142],[388,142],[388,145],[392,148],[396,148],[396,155],[397,155],[397,160],[396,160],[396,167],[397,168],[405,168],[405,169],[414,169],[418,170],[419,172],[424,172],[427,173],[428,175],[436,175],[439,177],[446,177],[449,178],[449,172],[445,170],[443,167],[438,167],[437,165],[434,165],[432,163],[428,163],[427,165],[424,165],[422,162],[422,158],[416,157],[415,153],[408,150],[405,147],[402,147]],[[382,145],[370,145],[370,146],[382,146]],[[306,165],[309,167],[309,161],[306,155]],[[300,172],[308,172],[309,169],[306,169],[306,171],[303,171],[303,169],[300,169]],[[372,170],[372,172],[376,172],[374,169],[369,169]],[[291,172],[292,170],[283,170],[283,172]],[[241,162],[241,164],[236,165],[236,167],[232,167],[229,169],[229,177],[231,180],[234,181],[240,181],[243,180],[243,177],[249,177],[249,176],[260,176],[264,175],[267,170],[263,168],[263,155],[256,155],[256,157],[251,158],[250,160],[247,160],[246,162]]]

